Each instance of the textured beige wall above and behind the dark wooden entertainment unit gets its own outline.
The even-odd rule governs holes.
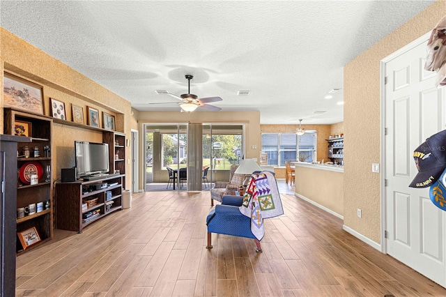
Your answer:
[[[116,130],[125,132],[130,137],[131,107],[128,100],[77,73],[3,28],[0,28],[0,38],[0,69],[43,86],[45,115],[50,116],[49,98],[55,98],[65,103],[68,121],[72,120],[71,104],[83,107],[84,123],[86,123],[88,105],[98,109],[100,114],[102,112],[113,114],[116,117]],[[3,133],[3,79],[1,86],[0,132]],[[102,123],[102,116],[100,122]],[[52,148],[54,178],[60,178],[61,168],[75,166],[75,140],[102,142],[102,133],[54,123]],[[130,147],[126,147],[125,154],[130,160]],[[130,176],[129,162],[126,162],[125,172]],[[125,188],[130,188],[131,178],[126,178],[125,183]]]

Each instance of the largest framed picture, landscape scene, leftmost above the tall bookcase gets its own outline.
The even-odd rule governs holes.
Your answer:
[[[3,104],[26,112],[43,114],[43,88],[20,77],[3,76]]]

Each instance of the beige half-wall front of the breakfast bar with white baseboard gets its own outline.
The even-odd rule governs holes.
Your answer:
[[[295,195],[344,218],[344,167],[293,162]]]

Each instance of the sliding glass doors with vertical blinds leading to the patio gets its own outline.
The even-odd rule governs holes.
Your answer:
[[[145,189],[210,190],[215,180],[229,181],[243,151],[240,124],[146,124]]]

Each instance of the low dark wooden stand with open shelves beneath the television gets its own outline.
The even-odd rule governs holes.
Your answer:
[[[99,176],[94,181],[56,183],[58,229],[82,233],[82,229],[92,222],[123,209],[124,174],[110,175],[112,174]],[[107,182],[107,188],[86,190],[91,185],[104,182]],[[94,205],[82,208],[83,203],[94,199],[96,199]]]

